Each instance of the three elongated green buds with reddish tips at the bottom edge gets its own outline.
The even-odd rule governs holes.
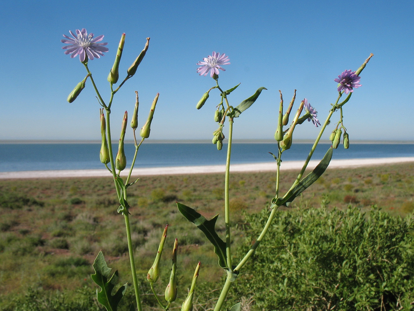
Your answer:
[[[165,226],[164,232],[161,236],[161,241],[159,243],[158,251],[155,256],[154,263],[152,267],[149,268],[147,273],[147,280],[151,283],[155,283],[159,279],[159,262],[161,259],[161,254],[164,249],[164,243],[167,237],[167,230],[168,225]],[[177,250],[178,250],[178,240],[177,238],[174,241],[173,247],[173,263],[171,266],[171,274],[170,274],[170,281],[164,291],[164,298],[168,303],[168,306],[177,299],[177,278],[176,278],[176,271],[177,271]],[[197,267],[194,272],[193,280],[191,282],[190,292],[188,293],[187,298],[184,300],[183,305],[181,307],[182,311],[191,311],[193,310],[193,296],[194,296],[194,289],[195,289],[195,282],[197,281],[198,272],[200,271],[200,262],[198,262]],[[167,306],[167,309],[168,309]],[[164,308],[165,309],[165,308]]]

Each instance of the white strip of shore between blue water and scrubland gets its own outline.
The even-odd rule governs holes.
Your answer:
[[[308,169],[315,168],[320,160],[311,160]],[[376,166],[381,164],[397,164],[414,162],[414,157],[400,158],[363,158],[363,159],[338,159],[331,160],[330,168],[357,168],[361,166]],[[282,162],[280,170],[300,170],[303,161]],[[132,176],[151,175],[185,175],[185,174],[207,174],[224,173],[226,165],[202,165],[202,166],[175,166],[161,168],[135,168]],[[270,172],[276,171],[276,162],[248,163],[230,165],[231,172]],[[126,175],[127,173],[123,174]],[[121,175],[121,176],[123,176]],[[30,178],[67,178],[67,177],[111,177],[106,169],[94,170],[43,170],[43,171],[20,171],[0,172],[0,179],[30,179]]]

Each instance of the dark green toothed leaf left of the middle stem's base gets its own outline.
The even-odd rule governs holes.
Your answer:
[[[217,214],[212,219],[207,220],[201,214],[197,213],[191,207],[188,207],[184,204],[177,202],[178,210],[181,214],[188,220],[191,221],[193,224],[197,226],[207,237],[207,239],[213,244],[214,246],[214,253],[217,254],[219,257],[219,265],[223,269],[227,268],[227,257],[226,257],[226,243],[221,240],[218,236],[215,226],[216,221],[219,215]]]

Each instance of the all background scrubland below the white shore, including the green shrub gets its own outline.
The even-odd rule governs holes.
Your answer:
[[[296,174],[282,176],[283,191]],[[274,184],[274,173],[231,175],[230,208],[238,228],[233,231],[238,255],[257,235]],[[156,303],[145,275],[167,223],[156,290],[163,294],[168,283],[177,236],[178,300],[185,297],[199,260],[198,288],[203,294],[195,309],[208,308],[209,299],[217,295],[214,289],[223,275],[217,257],[202,233],[178,213],[175,202],[209,219],[222,213],[222,188],[221,174],[148,176],[130,187],[132,240],[146,309]],[[280,209],[254,265],[243,270],[230,300],[242,299],[245,310],[336,306],[334,310],[381,311],[409,306],[414,301],[409,293],[414,289],[413,195],[412,163],[328,169],[289,209]],[[119,270],[120,284],[131,281],[118,206],[110,177],[0,180],[0,311],[102,310],[90,279],[99,250],[108,266]],[[217,226],[224,230],[222,217]],[[267,284],[272,286],[261,287]],[[132,295],[131,287],[127,295]]]

